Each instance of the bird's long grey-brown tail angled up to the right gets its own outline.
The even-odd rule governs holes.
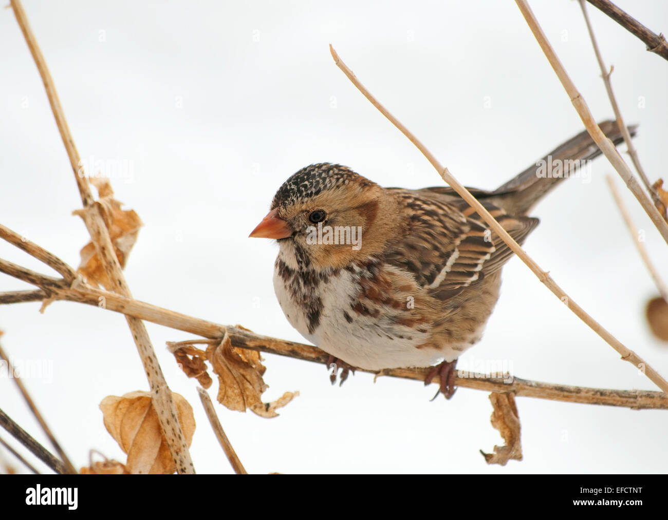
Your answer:
[[[599,126],[615,145],[623,142],[616,121],[603,121]],[[635,136],[637,125],[628,128],[631,136]],[[554,186],[568,177],[576,176],[580,168],[587,168],[587,161],[599,155],[601,149],[585,130],[496,188],[490,195],[499,202],[503,201],[501,205],[508,210],[512,208],[515,214],[527,214]]]

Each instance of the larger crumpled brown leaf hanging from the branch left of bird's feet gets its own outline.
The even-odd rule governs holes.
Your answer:
[[[220,343],[206,349],[206,356],[218,374],[218,403],[240,412],[263,404],[261,395],[268,386],[259,352],[234,348],[225,334]]]

